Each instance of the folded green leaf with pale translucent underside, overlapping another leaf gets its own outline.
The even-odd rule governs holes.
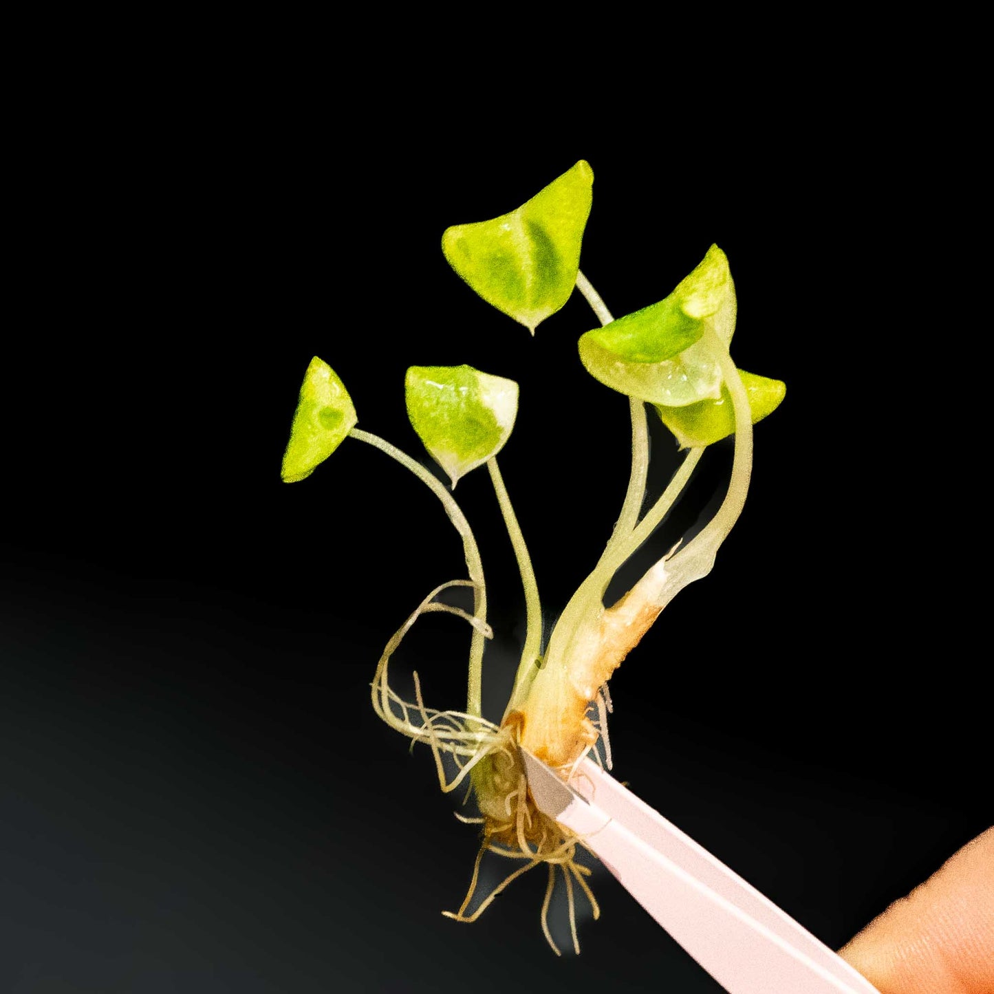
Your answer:
[[[718,246],[665,300],[581,336],[580,361],[595,380],[651,404],[717,401],[721,371],[699,342],[709,326],[726,344],[732,340],[735,284]]]

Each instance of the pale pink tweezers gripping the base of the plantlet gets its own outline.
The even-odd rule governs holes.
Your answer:
[[[568,784],[531,753],[521,753],[538,807],[580,836],[729,994],[880,994],[595,762],[583,759]]]

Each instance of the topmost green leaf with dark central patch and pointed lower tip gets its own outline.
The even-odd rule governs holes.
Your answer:
[[[580,160],[517,211],[446,229],[449,265],[532,334],[570,298],[590,213],[593,171]]]

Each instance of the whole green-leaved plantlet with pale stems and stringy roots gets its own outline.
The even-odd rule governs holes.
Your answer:
[[[574,287],[589,303],[600,327],[580,337],[580,361],[600,383],[626,395],[631,410],[631,472],[617,523],[599,561],[566,605],[546,642],[538,584],[497,453],[514,427],[518,386],[469,366],[412,367],[406,378],[408,414],[427,451],[456,481],[485,465],[517,557],[524,586],[527,625],[521,661],[499,724],[483,717],[481,678],[487,623],[483,568],[472,531],[451,492],[426,468],[390,442],[356,427],[357,414],[345,385],[315,357],[304,376],[283,457],[287,482],[309,476],[346,437],[367,442],[406,466],[441,501],[458,532],[468,579],[436,586],[387,643],[373,678],[376,713],[414,743],[428,745],[444,791],[466,784],[478,816],[460,820],[481,826],[482,842],[459,921],[473,921],[512,881],[546,864],[549,883],[541,920],[557,876],[566,886],[573,942],[579,952],[575,885],[597,906],[577,860],[582,840],[544,815],[532,800],[518,746],[529,749],[564,778],[592,753],[611,765],[607,738],[611,674],[669,601],[688,583],[711,572],[715,556],[745,503],[752,453],[752,423],[769,414],[784,385],[736,368],[729,354],[736,325],[736,293],[725,253],[709,249],[699,265],[663,300],[614,319],[580,272],[580,245],[590,210],[593,174],[585,162],[509,214],[449,228],[442,250],[452,268],[488,303],[534,334],[555,314]],[[643,515],[649,458],[646,405],[686,450],[663,494]],[[731,480],[708,524],[686,544],[663,555],[616,603],[603,597],[614,574],[649,538],[690,480],[705,448],[734,434]],[[472,589],[473,609],[439,600],[454,586]],[[446,611],[472,626],[464,711],[438,711],[422,700],[414,673],[414,700],[391,687],[394,653],[417,618]],[[596,746],[600,744],[600,748]],[[493,853],[518,865],[469,911],[480,863]]]

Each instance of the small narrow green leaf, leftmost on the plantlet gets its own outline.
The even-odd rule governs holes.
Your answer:
[[[293,413],[290,440],[283,453],[284,483],[310,476],[355,427],[356,409],[335,371],[315,356],[304,374]]]

